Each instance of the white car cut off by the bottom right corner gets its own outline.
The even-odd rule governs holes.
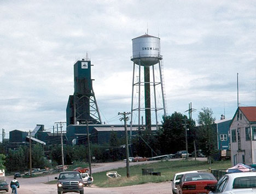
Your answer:
[[[216,187],[206,186],[210,193],[228,194],[228,193],[255,193],[256,173],[238,172],[224,175],[219,179]],[[210,194],[209,193],[209,194]]]

